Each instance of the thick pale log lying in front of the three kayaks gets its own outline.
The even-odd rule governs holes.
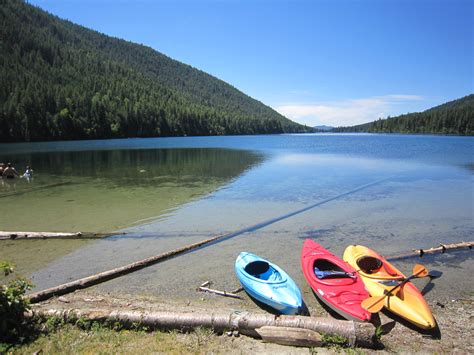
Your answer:
[[[359,323],[354,321],[337,320],[332,318],[304,317],[304,316],[275,316],[272,314],[250,314],[244,313],[184,313],[184,312],[140,312],[104,309],[36,309],[30,315],[42,317],[59,317],[65,321],[73,321],[85,318],[91,321],[119,322],[125,327],[140,324],[149,328],[192,330],[197,327],[212,328],[215,332],[226,330],[237,330],[242,334],[256,338],[284,337],[283,333],[276,334],[274,329],[263,327],[286,327],[292,329],[304,329],[319,334],[338,335],[347,339],[348,344],[363,347],[373,347],[375,327],[371,323]],[[263,328],[263,330],[262,330]],[[261,333],[261,335],[260,335]],[[301,332],[296,337],[301,338]],[[295,335],[293,335],[295,337]],[[315,342],[318,336],[311,333],[307,337],[313,338]],[[280,343],[283,340],[279,340]],[[290,342],[291,339],[287,340]]]

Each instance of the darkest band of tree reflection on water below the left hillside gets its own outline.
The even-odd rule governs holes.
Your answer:
[[[261,156],[232,149],[188,148],[31,153],[14,159],[17,166],[29,163],[36,175],[147,183],[163,176],[227,179],[257,163]]]

